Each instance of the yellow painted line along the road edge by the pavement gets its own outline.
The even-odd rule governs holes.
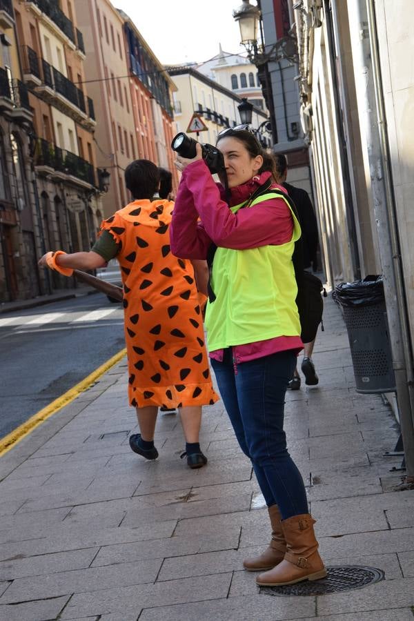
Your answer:
[[[63,408],[63,406],[68,405],[71,401],[76,399],[76,397],[78,397],[80,393],[86,391],[86,388],[89,388],[91,384],[96,382],[97,379],[101,377],[101,375],[103,375],[103,373],[111,368],[111,366],[117,364],[117,362],[119,362],[119,360],[121,360],[124,355],[126,355],[126,349],[121,349],[121,351],[115,354],[115,356],[112,356],[112,358],[96,368],[95,371],[92,371],[92,373],[90,373],[88,377],[85,377],[84,380],[79,382],[79,384],[72,386],[72,388],[70,388],[70,390],[68,390],[66,393],[63,393],[63,395],[57,397],[55,401],[52,401],[52,403],[50,403],[48,406],[39,410],[39,412],[32,415],[28,420],[26,420],[26,422],[24,422],[19,427],[11,431],[8,435],[3,437],[0,440],[0,457],[1,455],[4,455],[8,451],[10,451],[10,449],[16,446],[16,444],[21,442],[21,440],[23,440],[23,437],[26,437],[26,435],[32,433],[32,431],[36,427],[48,420],[50,416],[57,413],[57,411]]]

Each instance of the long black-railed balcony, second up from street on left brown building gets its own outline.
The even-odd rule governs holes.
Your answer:
[[[88,97],[87,110],[83,91],[77,88],[66,75],[63,75],[45,59],[39,59],[32,48],[23,46],[22,50],[23,78],[30,88],[36,89],[34,91],[36,95],[59,108],[64,114],[70,116],[77,123],[81,123],[84,127],[95,127],[92,99]]]

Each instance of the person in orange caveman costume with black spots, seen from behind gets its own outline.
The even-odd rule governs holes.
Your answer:
[[[219,397],[210,377],[195,270],[190,260],[171,253],[174,203],[152,201],[159,186],[157,166],[146,159],[133,161],[125,180],[134,200],[103,221],[90,252],[49,252],[39,265],[72,275],[73,269],[92,270],[117,258],[124,285],[128,397],[140,429],[130,435],[130,447],[148,460],[157,459],[158,407],[178,408],[186,437],[183,456],[190,468],[200,468],[207,463],[199,446],[201,406]]]

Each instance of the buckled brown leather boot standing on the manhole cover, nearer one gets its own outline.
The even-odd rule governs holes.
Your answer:
[[[282,520],[282,532],[287,551],[284,560],[270,571],[257,576],[260,586],[282,586],[302,580],[325,578],[326,569],[317,551],[318,544],[313,532],[315,520],[309,513],[293,515]]]

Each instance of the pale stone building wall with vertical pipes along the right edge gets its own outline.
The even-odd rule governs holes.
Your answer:
[[[408,0],[304,0],[295,23],[326,276],[331,286],[383,276],[397,417],[414,477],[410,9]]]

